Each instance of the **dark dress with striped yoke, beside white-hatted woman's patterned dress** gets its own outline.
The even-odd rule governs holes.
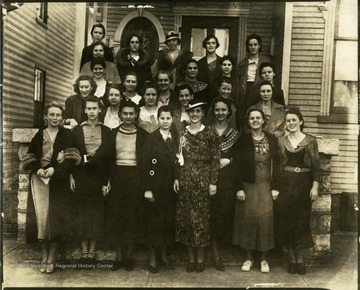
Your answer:
[[[210,200],[211,236],[218,242],[231,244],[235,211],[235,163],[239,148],[239,131],[230,125],[218,137],[221,158],[230,159],[231,163],[219,169],[217,192]]]

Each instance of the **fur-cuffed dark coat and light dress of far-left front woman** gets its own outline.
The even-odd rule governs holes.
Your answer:
[[[30,169],[30,190],[27,207],[27,242],[36,239],[58,241],[71,234],[71,193],[69,173],[71,163],[64,160],[63,151],[71,145],[70,130],[59,128],[54,140],[46,129],[39,130],[31,140],[21,166]],[[43,181],[36,172],[53,167],[50,180]]]

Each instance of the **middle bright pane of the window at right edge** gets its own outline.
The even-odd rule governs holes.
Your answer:
[[[335,80],[357,81],[357,41],[336,41]]]

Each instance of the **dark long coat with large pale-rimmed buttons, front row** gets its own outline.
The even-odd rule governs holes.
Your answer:
[[[175,154],[177,134],[164,137],[157,129],[149,135],[144,157],[143,191],[151,190],[154,202],[145,201],[145,243],[151,246],[169,245],[175,236]]]

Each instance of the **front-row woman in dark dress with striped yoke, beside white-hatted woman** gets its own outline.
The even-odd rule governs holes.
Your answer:
[[[225,267],[218,252],[218,243],[229,245],[232,241],[235,209],[233,160],[238,151],[237,141],[240,133],[229,124],[229,118],[233,112],[228,99],[215,98],[210,112],[213,115],[211,126],[220,139],[221,150],[217,193],[210,202],[211,250],[215,269],[224,271]]]

